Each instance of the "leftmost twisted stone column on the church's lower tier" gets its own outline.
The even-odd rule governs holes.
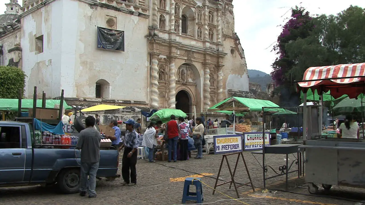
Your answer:
[[[151,59],[151,108],[158,108],[158,55]]]

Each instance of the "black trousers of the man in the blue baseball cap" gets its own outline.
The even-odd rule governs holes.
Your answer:
[[[137,183],[137,151],[136,150],[131,157],[127,157],[128,153],[133,149],[129,147],[124,147],[123,158],[122,158],[122,177],[127,183]],[[130,170],[130,172],[129,172]],[[130,177],[130,178],[129,178]]]

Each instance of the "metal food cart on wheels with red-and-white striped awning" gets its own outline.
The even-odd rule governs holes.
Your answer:
[[[335,98],[364,93],[365,63],[310,67],[297,83],[298,91],[304,93],[303,145],[299,147],[306,150],[308,192],[318,192],[315,183],[325,190],[332,185],[365,188],[365,140],[322,137],[323,92],[330,90]],[[319,105],[307,105],[308,89],[318,91]]]

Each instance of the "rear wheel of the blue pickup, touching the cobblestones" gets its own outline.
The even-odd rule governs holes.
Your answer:
[[[80,189],[80,169],[62,170],[57,177],[57,185],[65,194],[77,193]]]

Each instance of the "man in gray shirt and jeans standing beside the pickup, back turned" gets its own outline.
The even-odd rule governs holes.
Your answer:
[[[100,132],[94,129],[95,118],[85,119],[86,129],[78,134],[76,148],[81,149],[81,187],[80,196],[89,192],[89,198],[96,197],[96,172],[100,161]],[[88,179],[89,176],[89,179]]]

